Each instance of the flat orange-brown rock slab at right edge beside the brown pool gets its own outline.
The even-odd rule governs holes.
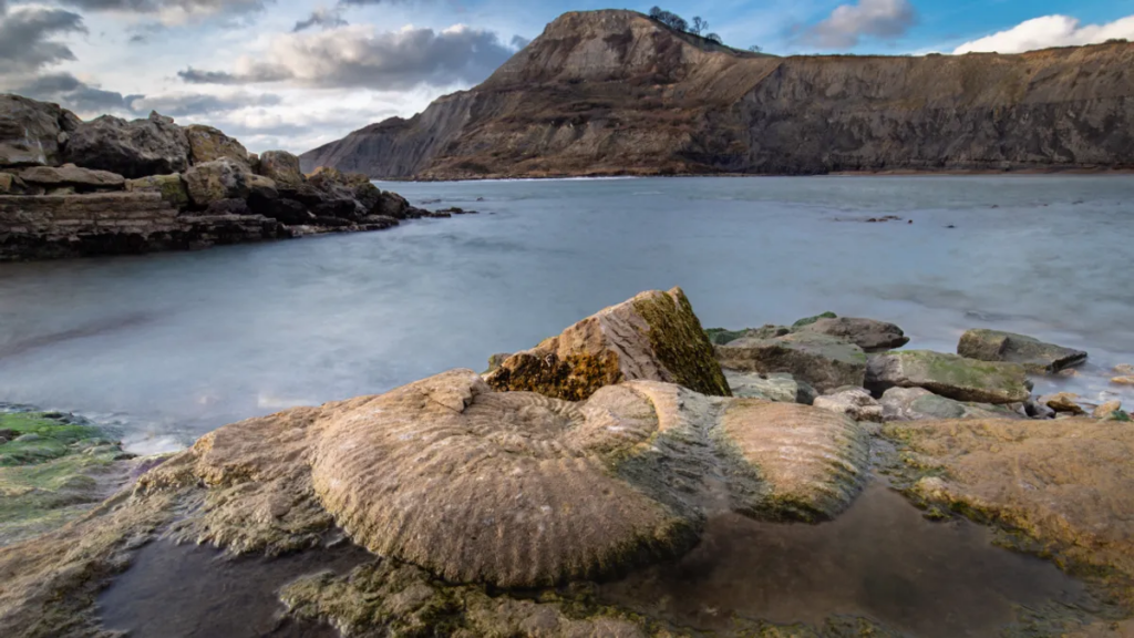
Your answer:
[[[883,431],[903,451],[908,493],[925,506],[999,526],[1009,532],[1002,543],[1053,556],[1134,605],[1134,428],[965,420]]]

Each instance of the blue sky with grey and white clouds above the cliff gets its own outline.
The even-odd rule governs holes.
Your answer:
[[[302,152],[475,86],[595,0],[0,0],[0,92],[209,124]],[[962,54],[1134,41],[1134,0],[672,0],[775,54]]]

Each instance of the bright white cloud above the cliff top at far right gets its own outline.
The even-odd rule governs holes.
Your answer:
[[[1043,16],[988,37],[965,42],[957,47],[954,53],[973,51],[1022,53],[1050,47],[1095,44],[1112,39],[1134,40],[1134,16],[1103,25],[1081,25],[1077,18],[1070,16]]]

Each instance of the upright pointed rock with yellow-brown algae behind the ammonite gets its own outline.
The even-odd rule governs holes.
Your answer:
[[[498,391],[531,391],[568,401],[634,379],[729,395],[712,345],[680,288],[641,293],[607,308],[511,355],[486,378]]]

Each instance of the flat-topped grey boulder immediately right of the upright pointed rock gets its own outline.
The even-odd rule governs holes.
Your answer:
[[[743,337],[716,347],[721,367],[745,372],[787,372],[819,392],[861,386],[866,373],[862,349],[820,333],[793,333],[771,339]]]

